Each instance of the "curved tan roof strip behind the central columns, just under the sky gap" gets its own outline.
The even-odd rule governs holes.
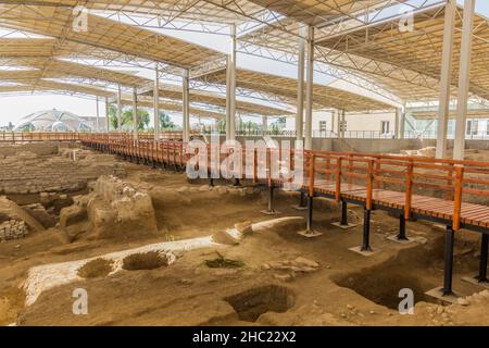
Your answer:
[[[226,71],[218,70],[200,77],[208,83],[226,84]],[[264,92],[293,104],[297,101],[298,80],[272,74],[238,69],[236,86]],[[314,84],[314,108],[344,111],[371,111],[393,109],[392,105],[342,89]]]

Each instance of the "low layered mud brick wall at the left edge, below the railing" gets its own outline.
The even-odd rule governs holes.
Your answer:
[[[26,148],[0,147],[0,194],[38,194],[43,191],[75,191],[84,189],[88,181],[114,172],[115,161],[98,163],[93,158],[77,161],[52,153],[48,144]],[[1,154],[1,150],[4,153]],[[13,151],[13,152],[12,152]],[[55,148],[58,152],[58,148]]]

